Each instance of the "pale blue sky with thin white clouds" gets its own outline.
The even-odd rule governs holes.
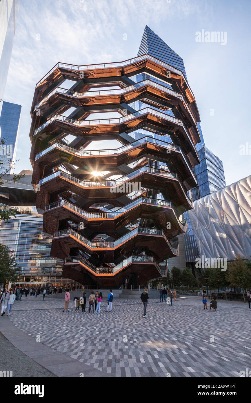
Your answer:
[[[137,56],[148,25],[184,60],[205,145],[222,160],[226,185],[247,177],[250,17],[249,0],[21,0],[4,96],[22,105],[15,173],[31,169],[30,109],[37,81],[57,62]],[[198,42],[203,30],[222,32],[222,41]]]

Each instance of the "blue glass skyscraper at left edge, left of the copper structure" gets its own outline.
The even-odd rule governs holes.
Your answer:
[[[4,144],[0,145],[0,173],[8,172],[10,161],[15,162],[17,153],[17,142],[19,135],[19,122],[21,116],[21,105],[3,102],[0,115],[1,135]],[[12,170],[8,173],[12,173]]]

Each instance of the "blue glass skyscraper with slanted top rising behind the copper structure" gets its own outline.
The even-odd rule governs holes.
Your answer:
[[[146,53],[175,67],[176,69],[179,69],[187,79],[183,59],[147,25],[145,26],[143,37],[141,39],[138,56]],[[166,113],[168,113],[168,111]],[[197,123],[197,128],[200,133],[201,142],[196,144],[195,147],[199,155],[200,164],[195,165],[192,170],[197,179],[198,186],[188,192],[189,197],[191,197],[193,201],[226,186],[222,161],[212,151],[205,147],[200,123]],[[189,219],[189,212],[185,212],[183,218],[187,220],[187,233],[179,235],[179,243],[180,246],[185,246],[185,253],[183,253],[182,247],[180,247],[179,254],[181,258],[177,257],[168,259],[168,266],[170,266],[170,268],[174,265],[180,266],[180,268],[184,268],[186,265],[192,267],[189,263],[195,262],[195,258],[199,256],[192,225]],[[181,238],[184,239],[184,242]]]

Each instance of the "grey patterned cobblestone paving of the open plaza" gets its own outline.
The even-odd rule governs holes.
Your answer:
[[[239,376],[251,367],[248,305],[178,298],[168,307],[151,300],[147,317],[139,300],[115,299],[111,313],[62,312],[64,300],[27,297],[15,302],[10,320],[41,343],[111,376]],[[88,305],[87,305],[88,307]],[[1,318],[0,318],[1,319]],[[214,340],[214,341],[213,341]]]

